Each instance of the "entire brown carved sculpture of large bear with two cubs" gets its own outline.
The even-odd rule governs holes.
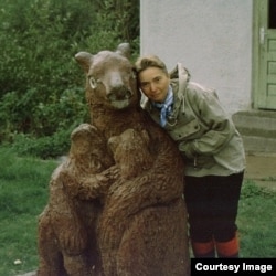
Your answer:
[[[183,161],[140,107],[129,45],[75,59],[91,124],[72,134],[39,222],[39,276],[188,276]]]

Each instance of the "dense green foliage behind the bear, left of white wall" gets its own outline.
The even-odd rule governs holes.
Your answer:
[[[2,0],[0,142],[19,135],[51,141],[87,120],[84,76],[74,55],[126,41],[135,56],[138,0]],[[61,153],[50,153],[51,142],[49,148],[49,156]]]

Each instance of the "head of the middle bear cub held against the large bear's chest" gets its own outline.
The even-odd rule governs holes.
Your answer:
[[[121,135],[109,138],[108,146],[121,178],[131,179],[151,168],[153,158],[149,145],[150,137],[146,130],[136,131],[129,128]]]

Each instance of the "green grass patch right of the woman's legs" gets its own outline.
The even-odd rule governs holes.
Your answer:
[[[275,213],[276,192],[245,181],[237,217],[241,257],[276,257]]]

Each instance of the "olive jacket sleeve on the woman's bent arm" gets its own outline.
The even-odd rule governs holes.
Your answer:
[[[235,134],[235,126],[221,106],[214,91],[199,87],[188,89],[187,96],[188,104],[205,130],[198,139],[187,144],[185,153],[188,157],[213,156],[232,139]]]

